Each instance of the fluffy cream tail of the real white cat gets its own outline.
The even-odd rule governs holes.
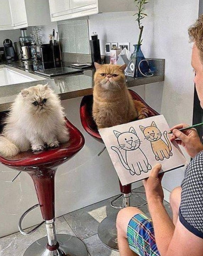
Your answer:
[[[8,138],[0,136],[0,155],[3,157],[13,157],[17,155],[20,150]]]

